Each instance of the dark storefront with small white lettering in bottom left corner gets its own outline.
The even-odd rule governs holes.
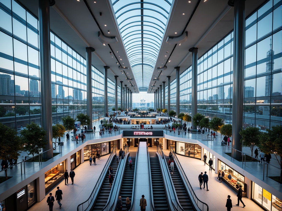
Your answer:
[[[36,181],[27,184],[0,203],[0,210],[25,211],[36,203]]]

